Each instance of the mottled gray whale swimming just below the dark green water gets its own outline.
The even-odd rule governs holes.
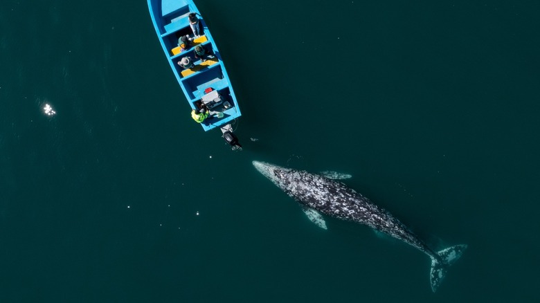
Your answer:
[[[424,252],[431,258],[430,278],[433,292],[440,286],[447,268],[461,257],[467,248],[467,245],[461,244],[438,252],[431,250],[390,212],[339,181],[259,161],[253,161],[253,166],[298,201],[303,206],[307,217],[321,228],[326,228],[322,213],[364,224]]]

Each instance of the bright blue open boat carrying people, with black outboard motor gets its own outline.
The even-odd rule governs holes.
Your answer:
[[[159,42],[192,114],[206,111],[208,118],[200,123],[204,131],[219,128],[233,149],[240,148],[231,125],[241,116],[240,107],[219,49],[197,6],[191,0],[147,1]],[[201,50],[206,53],[201,55]]]

